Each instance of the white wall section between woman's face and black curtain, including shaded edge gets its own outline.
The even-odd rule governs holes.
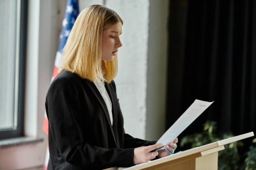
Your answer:
[[[158,140],[164,132],[168,0],[106,1],[121,15],[116,78],[127,133]]]

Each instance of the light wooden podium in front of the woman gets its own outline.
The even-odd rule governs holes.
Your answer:
[[[218,169],[218,151],[224,150],[224,145],[231,142],[236,142],[245,138],[254,136],[253,132],[241,134],[210,144],[205,144],[196,148],[191,148],[187,151],[174,153],[168,157],[160,158],[155,161],[149,161],[148,163],[142,163],[129,168],[113,168],[113,169],[157,169],[157,170],[201,170],[201,169]]]

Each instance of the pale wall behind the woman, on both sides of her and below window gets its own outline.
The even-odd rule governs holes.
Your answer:
[[[152,140],[158,139],[164,127],[168,0],[161,2],[79,1],[81,9],[94,3],[106,3],[107,7],[117,11],[123,18],[123,47],[119,51],[116,83],[125,118],[125,130],[135,137]],[[51,81],[64,11],[63,0],[29,0],[25,118],[27,136],[46,139],[42,132],[44,99]],[[45,150],[46,140],[0,148],[0,169],[42,166]]]

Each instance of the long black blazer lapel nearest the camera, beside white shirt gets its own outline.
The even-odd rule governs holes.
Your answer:
[[[100,91],[98,91],[96,85],[94,85],[94,83],[91,82],[91,81],[88,83],[88,85],[89,85],[89,87],[92,89],[92,91],[94,92],[94,94],[95,94],[95,96],[97,97],[98,101],[100,102],[100,105],[102,106],[102,109],[103,109],[103,111],[104,111],[106,120],[107,120],[107,122],[108,122],[108,126],[110,127],[111,134],[112,134],[112,136],[113,136],[113,138],[114,138],[114,141],[115,141],[115,144],[116,144],[116,146],[117,146],[117,140],[116,140],[116,138],[115,138],[115,133],[114,133],[114,131],[113,131],[113,126],[112,126],[111,121],[110,121],[110,118],[109,118],[109,114],[108,114],[108,109],[107,109],[107,107],[106,107],[106,103],[105,103],[105,101],[104,101],[102,95],[100,94]],[[106,86],[105,86],[105,87],[106,87]],[[108,93],[108,94],[109,94],[109,93]],[[110,97],[110,96],[109,96],[109,97]],[[110,100],[113,101],[112,97],[110,97]],[[114,118],[113,118],[113,120],[114,120]]]

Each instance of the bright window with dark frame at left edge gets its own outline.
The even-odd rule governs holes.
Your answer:
[[[23,135],[27,2],[0,1],[0,139]]]

